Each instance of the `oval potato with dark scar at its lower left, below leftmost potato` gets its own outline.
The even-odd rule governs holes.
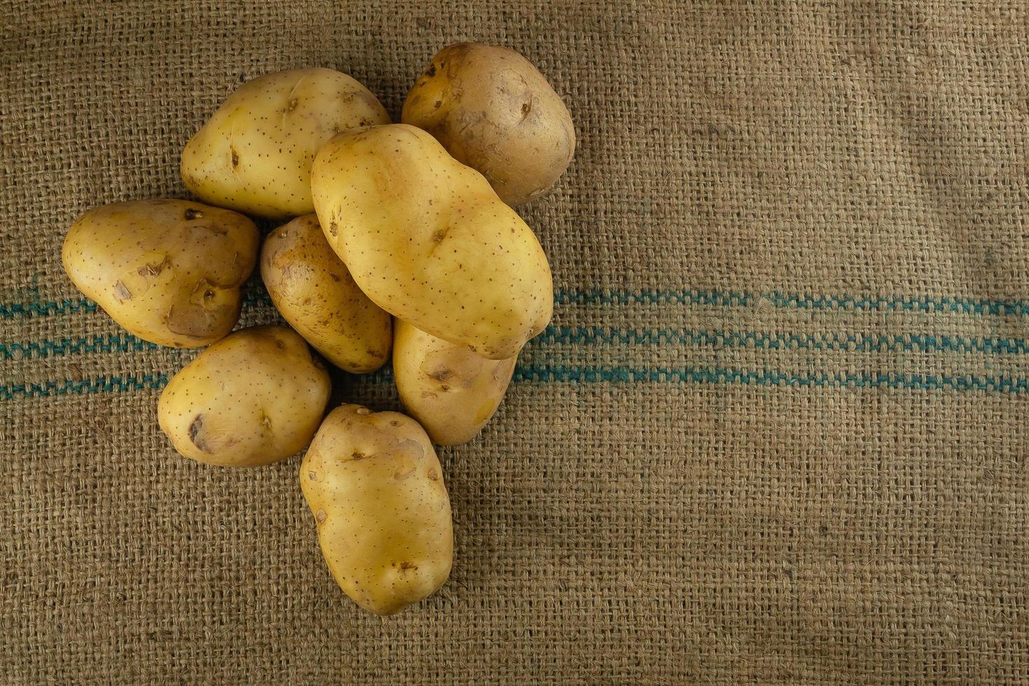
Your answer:
[[[304,338],[284,326],[256,326],[175,374],[157,401],[157,422],[184,457],[256,467],[304,449],[329,390],[328,372]]]

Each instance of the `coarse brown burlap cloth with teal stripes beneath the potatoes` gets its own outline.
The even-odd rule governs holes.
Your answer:
[[[415,5],[416,3],[410,3]],[[0,682],[1029,681],[1029,10],[990,2],[0,2]],[[298,458],[175,455],[196,352],[81,299],[69,224],[184,196],[243,80],[396,115],[510,45],[575,160],[525,208],[554,326],[440,450],[457,557],[396,617],[335,586]],[[242,324],[277,321],[251,284]],[[396,408],[390,378],[336,401]]]

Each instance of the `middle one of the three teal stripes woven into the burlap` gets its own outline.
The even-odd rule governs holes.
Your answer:
[[[764,332],[723,333],[695,329],[598,329],[592,327],[549,326],[534,342],[557,345],[662,346],[694,345],[705,348],[755,348],[761,350],[830,350],[841,352],[957,352],[998,355],[1025,355],[1029,344],[1024,338],[965,338],[960,336],[906,334],[894,336],[794,335]],[[157,350],[149,341],[132,334],[79,338],[61,338],[27,344],[0,345],[0,358],[54,357],[82,353],[127,353]]]

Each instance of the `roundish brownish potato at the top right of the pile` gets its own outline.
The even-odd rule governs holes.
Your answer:
[[[400,120],[482,172],[508,205],[545,193],[575,153],[575,128],[561,97],[506,47],[445,47],[415,81]]]

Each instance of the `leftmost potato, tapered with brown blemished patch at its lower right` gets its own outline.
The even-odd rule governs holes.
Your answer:
[[[134,201],[79,217],[61,260],[72,283],[133,335],[197,348],[236,326],[259,241],[253,222],[228,210]]]

